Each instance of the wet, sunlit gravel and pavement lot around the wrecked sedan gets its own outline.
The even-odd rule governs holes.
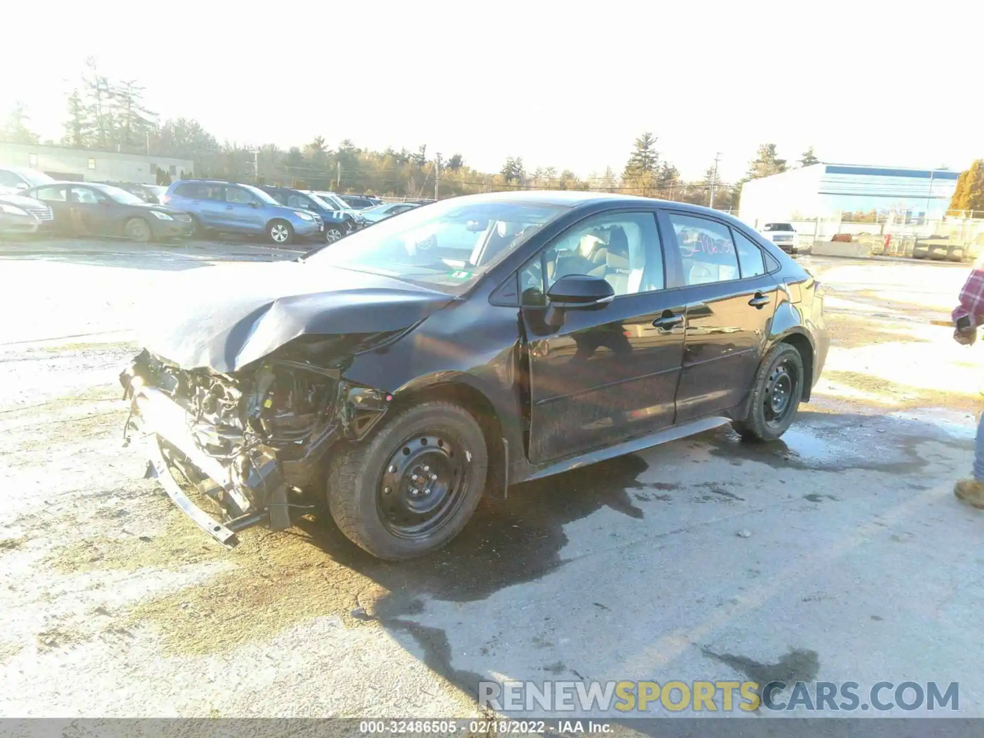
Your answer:
[[[783,441],[518,485],[387,564],[314,520],[226,552],[121,448],[142,297],[293,256],[0,242],[0,716],[466,717],[482,676],[776,675],[957,681],[984,716],[984,520],[952,494],[984,354],[928,323],[965,266],[803,258],[832,345]]]

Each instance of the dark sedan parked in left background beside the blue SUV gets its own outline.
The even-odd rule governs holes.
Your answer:
[[[24,190],[54,214],[53,227],[66,235],[123,236],[131,241],[183,238],[193,230],[191,215],[146,203],[113,185],[52,182]]]

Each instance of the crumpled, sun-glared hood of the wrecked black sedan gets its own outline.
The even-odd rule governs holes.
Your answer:
[[[453,297],[391,277],[304,262],[181,275],[138,306],[142,345],[184,369],[234,372],[299,336],[398,331]]]

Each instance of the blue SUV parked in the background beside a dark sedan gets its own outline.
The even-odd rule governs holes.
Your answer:
[[[252,185],[215,179],[179,179],[167,188],[167,205],[187,211],[197,232],[264,235],[272,243],[321,238],[325,223],[316,213],[282,206]]]

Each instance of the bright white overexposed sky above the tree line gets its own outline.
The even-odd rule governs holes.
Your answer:
[[[0,116],[58,140],[87,56],[161,119],[219,140],[427,145],[498,171],[619,173],[644,131],[686,179],[760,144],[791,161],[965,168],[984,156],[984,4],[443,2],[5,4]],[[97,8],[97,11],[93,11]],[[965,72],[966,81],[960,81]]]

